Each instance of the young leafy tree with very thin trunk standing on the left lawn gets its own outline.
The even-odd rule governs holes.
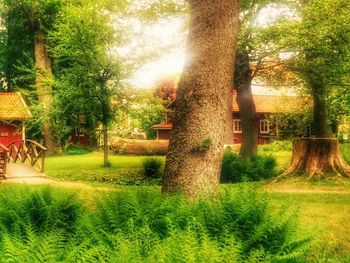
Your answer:
[[[109,1],[69,5],[50,34],[59,86],[57,100],[66,109],[62,114],[84,116],[95,124],[94,130],[101,125],[104,166],[109,165],[108,126],[114,109],[125,104],[120,61],[113,53],[121,40],[112,21],[117,7],[124,5],[109,5]]]

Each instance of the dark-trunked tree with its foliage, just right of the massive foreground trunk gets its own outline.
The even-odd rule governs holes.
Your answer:
[[[275,5],[272,5],[275,3]],[[279,65],[277,54],[279,47],[274,45],[274,37],[269,27],[257,23],[261,11],[266,8],[281,8],[283,1],[274,0],[242,0],[240,3],[240,34],[236,51],[234,87],[237,92],[237,104],[242,125],[242,143],[240,155],[252,157],[257,154],[258,117],[252,93],[252,82],[260,77],[260,73],[268,66],[273,70]],[[271,62],[274,58],[274,62]],[[232,126],[232,123],[230,123]]]

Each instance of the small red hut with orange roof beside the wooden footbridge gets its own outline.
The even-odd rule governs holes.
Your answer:
[[[0,143],[8,145],[12,141],[24,139],[24,121],[31,117],[20,93],[0,93]]]

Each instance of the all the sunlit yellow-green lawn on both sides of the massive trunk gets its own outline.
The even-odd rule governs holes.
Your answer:
[[[350,160],[350,147],[342,146],[346,160]],[[289,164],[291,152],[265,149],[260,152],[273,154],[278,169],[283,171]],[[140,186],[129,186],[139,180],[142,183],[142,162],[139,156],[111,156],[110,167],[102,167],[102,154],[98,152],[75,156],[53,156],[47,158],[46,173],[64,181],[89,183],[90,188],[75,189],[88,205],[93,206],[101,191],[134,191]],[[159,157],[163,158],[164,157]],[[114,180],[113,184],[105,181]],[[92,183],[96,182],[96,183]],[[104,188],[94,188],[94,185]],[[269,204],[277,210],[286,208],[295,212],[300,221],[299,232],[315,235],[308,252],[308,262],[350,262],[350,180],[307,180],[306,178],[272,179],[265,182],[249,183],[260,192],[265,192]],[[92,185],[92,188],[91,188]],[[223,185],[223,189],[239,191],[239,185]],[[94,190],[95,189],[95,190]],[[101,190],[102,189],[102,190]],[[145,189],[159,192],[159,186]],[[70,190],[71,191],[71,190]],[[300,234],[301,235],[301,234]]]

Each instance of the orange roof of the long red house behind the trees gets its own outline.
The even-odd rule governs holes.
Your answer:
[[[233,95],[233,112],[239,112]],[[311,99],[302,96],[253,95],[256,113],[301,113],[310,108]]]

